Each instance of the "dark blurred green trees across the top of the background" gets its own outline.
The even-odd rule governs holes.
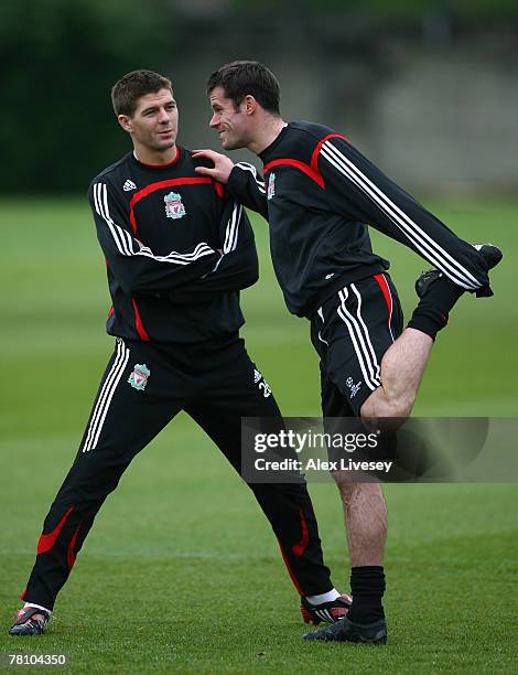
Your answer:
[[[292,38],[301,18],[306,32],[320,26],[311,32],[315,43],[328,38],[326,26],[346,25],[343,44],[350,44],[356,25],[354,44],[367,47],[374,23],[387,35],[406,24],[407,34],[430,43],[450,36],[457,21],[481,31],[499,22],[510,58],[518,35],[518,0],[0,0],[0,193],[86,191],[130,147],[109,97],[128,71],[162,71],[174,83],[177,68],[205,57],[202,50],[204,72],[234,49],[255,57],[248,46],[258,25],[266,35],[271,22],[284,49],[279,35],[291,30]]]

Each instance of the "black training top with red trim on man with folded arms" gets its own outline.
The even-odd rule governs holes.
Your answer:
[[[166,165],[129,153],[93,180],[110,335],[185,344],[244,324],[239,289],[258,278],[253,233],[224,185],[195,173],[202,164],[181,147]]]

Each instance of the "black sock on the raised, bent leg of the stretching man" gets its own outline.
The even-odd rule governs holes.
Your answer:
[[[438,332],[447,323],[449,312],[454,307],[464,289],[446,277],[440,277],[430,286],[413,310],[408,328],[413,328],[435,340]]]

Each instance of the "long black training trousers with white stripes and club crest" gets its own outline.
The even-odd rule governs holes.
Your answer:
[[[270,388],[237,335],[181,347],[117,339],[76,459],[45,518],[23,600],[53,609],[102,502],[133,457],[180,410],[208,433],[238,472],[240,418],[269,417],[269,424],[282,425]],[[331,590],[305,485],[249,488],[270,521],[299,593]]]

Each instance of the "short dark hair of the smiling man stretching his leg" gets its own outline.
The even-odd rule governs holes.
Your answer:
[[[245,96],[250,94],[259,105],[280,115],[280,87],[273,73],[257,61],[233,61],[215,71],[207,82],[207,94],[222,87],[237,110]]]

